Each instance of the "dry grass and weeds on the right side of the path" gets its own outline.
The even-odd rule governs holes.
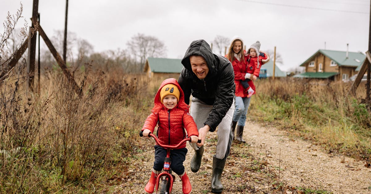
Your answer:
[[[371,111],[357,97],[347,96],[350,84],[313,80],[258,80],[251,117],[275,123],[324,145],[329,152],[344,152],[358,159],[371,155]]]

